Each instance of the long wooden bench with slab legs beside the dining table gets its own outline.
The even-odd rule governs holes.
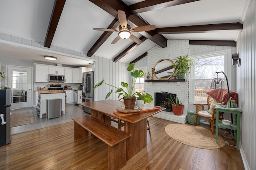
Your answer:
[[[126,165],[126,139],[130,134],[101,122],[90,115],[72,118],[74,140],[86,137],[90,132],[108,145],[108,169],[119,170]]]

